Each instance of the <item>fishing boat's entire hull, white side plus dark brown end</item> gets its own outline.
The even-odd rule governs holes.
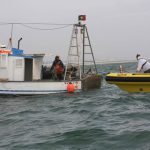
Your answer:
[[[69,83],[74,84],[74,92],[97,89],[101,86],[101,76],[89,75],[83,80],[72,81],[0,81],[0,95],[44,95],[63,93],[67,91]]]

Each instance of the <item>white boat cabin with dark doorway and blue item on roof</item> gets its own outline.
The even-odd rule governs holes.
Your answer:
[[[0,47],[0,81],[34,81],[42,79],[44,54],[24,54],[23,50]]]

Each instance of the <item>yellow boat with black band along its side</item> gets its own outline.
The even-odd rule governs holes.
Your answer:
[[[150,73],[109,73],[105,79],[127,92],[150,92]]]

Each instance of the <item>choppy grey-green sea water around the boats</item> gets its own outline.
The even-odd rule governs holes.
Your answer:
[[[119,65],[98,70],[118,72]],[[150,150],[150,93],[103,80],[101,89],[74,94],[1,96],[0,150]]]

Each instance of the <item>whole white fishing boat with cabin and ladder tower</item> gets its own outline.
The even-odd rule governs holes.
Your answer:
[[[83,30],[84,32],[77,32]],[[80,55],[78,47],[78,34],[83,39],[83,65],[80,65]],[[80,35],[80,36],[81,36]],[[90,53],[86,53],[85,47],[90,48]],[[75,41],[75,43],[74,43]],[[75,44],[75,45],[74,45]],[[18,46],[19,47],[19,46]],[[85,56],[91,54],[93,64],[86,65]],[[49,76],[49,70],[43,68],[44,54],[24,54],[19,48],[0,48],[0,94],[1,95],[37,95],[70,92],[68,87],[73,85],[73,91],[100,88],[101,77],[97,74],[92,47],[89,41],[86,25],[80,23],[73,25],[70,48],[68,52],[68,62],[64,73],[64,79],[56,81]],[[73,58],[73,59],[72,59]],[[70,67],[76,70],[70,70]],[[90,69],[89,69],[90,67]],[[46,68],[47,69],[47,68]],[[86,69],[89,71],[85,72]],[[46,74],[48,75],[47,77]]]

